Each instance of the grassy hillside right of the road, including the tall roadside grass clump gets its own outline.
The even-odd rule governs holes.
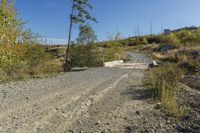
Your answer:
[[[158,68],[150,69],[144,83],[168,112],[180,118],[186,109],[177,102],[179,82],[183,75],[200,76],[200,29],[173,31],[151,39],[153,44],[133,46],[159,62]]]

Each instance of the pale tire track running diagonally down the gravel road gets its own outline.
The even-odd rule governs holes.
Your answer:
[[[115,80],[118,76],[115,77]],[[122,76],[121,78],[123,78]],[[121,78],[119,80],[121,80]],[[108,80],[109,83],[114,82],[115,80],[110,79]],[[108,89],[110,89],[112,86],[115,86],[119,80],[115,81],[112,85],[109,87],[103,86],[102,89],[99,89],[101,87],[97,87],[96,89],[91,90],[90,92],[86,93],[86,95],[82,95],[77,101],[74,103],[71,103],[63,108],[63,115],[60,116],[61,112],[58,112],[56,115],[54,115],[48,125],[40,130],[40,132],[64,132],[67,127],[73,123],[74,120],[78,119],[86,110],[87,108],[98,99],[99,96],[102,95],[102,93],[105,93]],[[106,81],[106,82],[108,82]],[[106,84],[106,83],[102,83]],[[99,85],[101,86],[101,85]]]

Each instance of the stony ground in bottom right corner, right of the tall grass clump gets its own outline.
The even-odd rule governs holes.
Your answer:
[[[187,108],[177,127],[181,132],[200,132],[200,91],[180,84],[179,100]]]

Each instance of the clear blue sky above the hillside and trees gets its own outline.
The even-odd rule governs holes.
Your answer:
[[[28,22],[26,28],[54,39],[67,37],[70,4],[70,0],[16,1],[19,16]],[[140,34],[149,34],[151,22],[153,33],[200,26],[200,0],[91,0],[91,4],[91,14],[99,22],[91,23],[98,40],[106,40],[108,32],[128,37],[139,29]]]

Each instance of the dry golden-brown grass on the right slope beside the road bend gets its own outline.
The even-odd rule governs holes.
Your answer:
[[[154,52],[151,55],[163,63],[176,63],[186,70],[188,75],[200,76],[200,46],[182,47],[168,52]]]

